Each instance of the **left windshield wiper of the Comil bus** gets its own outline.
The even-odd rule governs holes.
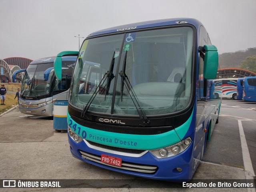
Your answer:
[[[106,79],[108,79],[106,85],[103,87],[103,89],[101,89],[101,93],[104,91],[105,87],[106,87],[106,92],[105,92],[105,100],[106,100],[106,95],[108,94],[109,88],[110,88],[110,82],[111,80],[115,77],[113,74],[113,69],[114,69],[114,63],[115,63],[115,52],[112,56],[111,62],[110,62],[110,67],[109,67],[109,71],[107,71],[103,78],[101,79],[99,85],[96,87],[94,93],[92,94],[92,96],[90,97],[89,101],[87,102],[87,104],[85,105],[82,113],[81,113],[81,117],[84,117],[85,114],[87,113],[90,105],[92,104],[92,101],[94,100],[94,98],[96,97],[96,95],[98,94],[98,92],[100,91],[100,89],[98,89],[100,87],[101,82],[103,81],[102,85],[104,84],[104,82],[106,81]],[[98,91],[97,91],[98,90]]]

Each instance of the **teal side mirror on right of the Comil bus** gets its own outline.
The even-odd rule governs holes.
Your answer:
[[[215,79],[218,71],[218,50],[213,45],[205,45],[203,47],[204,55],[204,78]]]

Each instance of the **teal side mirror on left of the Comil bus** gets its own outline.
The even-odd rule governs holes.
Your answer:
[[[61,80],[62,73],[62,57],[64,56],[78,56],[79,51],[62,51],[54,59],[54,73],[58,80]]]

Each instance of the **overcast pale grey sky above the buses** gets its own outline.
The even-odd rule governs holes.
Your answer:
[[[256,0],[0,0],[0,59],[50,57],[78,50],[78,34],[179,17],[200,20],[219,53],[256,47]]]

